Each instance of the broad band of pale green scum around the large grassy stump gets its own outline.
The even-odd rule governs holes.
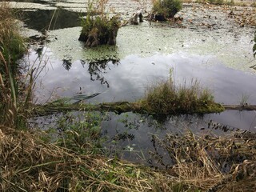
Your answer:
[[[190,29],[170,28],[170,26],[162,26],[158,23],[150,26],[148,22],[144,22],[140,26],[122,27],[118,31],[116,47],[102,46],[86,49],[82,42],[78,42],[81,30],[81,27],[74,27],[50,31],[50,43],[47,47],[56,58],[62,59],[68,56],[74,61],[78,59],[86,61],[106,58],[122,59],[130,54],[137,54],[141,57],[179,52],[211,55],[225,66],[254,72],[250,70],[250,66],[255,63],[250,53],[251,37],[248,34],[241,34],[240,38],[235,38],[232,33],[210,31],[202,34]]]

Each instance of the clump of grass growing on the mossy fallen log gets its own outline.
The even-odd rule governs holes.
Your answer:
[[[223,108],[214,102],[208,89],[202,89],[198,81],[191,80],[190,86],[176,86],[172,78],[159,82],[146,90],[143,100],[148,111],[155,114],[191,114],[219,112]]]

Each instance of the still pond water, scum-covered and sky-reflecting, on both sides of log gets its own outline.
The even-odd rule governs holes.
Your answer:
[[[256,70],[250,67],[256,64],[250,43],[254,28],[240,27],[228,17],[228,9],[184,4],[178,13],[184,18],[182,24],[144,21],[138,26],[123,26],[118,30],[117,46],[87,49],[78,42],[85,1],[19,1],[12,6],[22,10],[22,33],[34,39],[24,61],[42,69],[36,79],[37,103],[95,93],[98,96],[87,102],[134,102],[143,98],[148,86],[165,81],[171,73],[175,83],[189,86],[197,79],[202,87],[212,90],[216,102],[256,104]],[[140,8],[149,11],[150,1],[109,1],[107,6],[121,19]],[[255,12],[250,7],[236,9]],[[45,35],[46,41],[41,41]],[[133,113],[105,115],[108,118],[102,122],[102,134],[118,138],[113,147],[126,150],[124,157],[133,161],[146,159],[146,151],[153,149],[152,134],[162,137],[168,131],[225,134],[256,130],[254,111],[179,115],[164,120]],[[54,126],[57,118],[35,118],[31,123]]]

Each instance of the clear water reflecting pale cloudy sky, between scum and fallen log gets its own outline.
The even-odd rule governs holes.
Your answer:
[[[52,53],[47,50],[47,54]],[[30,59],[36,57],[32,51]],[[254,75],[222,66],[213,56],[184,53],[154,54],[151,57],[129,55],[120,61],[105,60],[99,64],[83,60],[63,62],[51,58],[38,78],[35,96],[38,102],[43,103],[50,97],[56,99],[74,94],[101,93],[88,102],[134,102],[143,98],[147,86],[169,78],[170,69],[173,69],[177,84],[186,83],[189,86],[191,79],[197,79],[202,87],[213,90],[216,102],[238,104],[242,95],[248,95],[247,102],[256,103]],[[254,130],[255,117],[254,111],[205,115],[208,120],[244,130]]]

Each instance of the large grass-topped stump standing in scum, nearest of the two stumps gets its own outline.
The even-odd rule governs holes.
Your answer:
[[[121,25],[118,17],[108,18],[104,14],[107,0],[100,0],[94,6],[89,2],[86,19],[82,19],[82,32],[79,40],[86,46],[115,45],[118,29]]]

